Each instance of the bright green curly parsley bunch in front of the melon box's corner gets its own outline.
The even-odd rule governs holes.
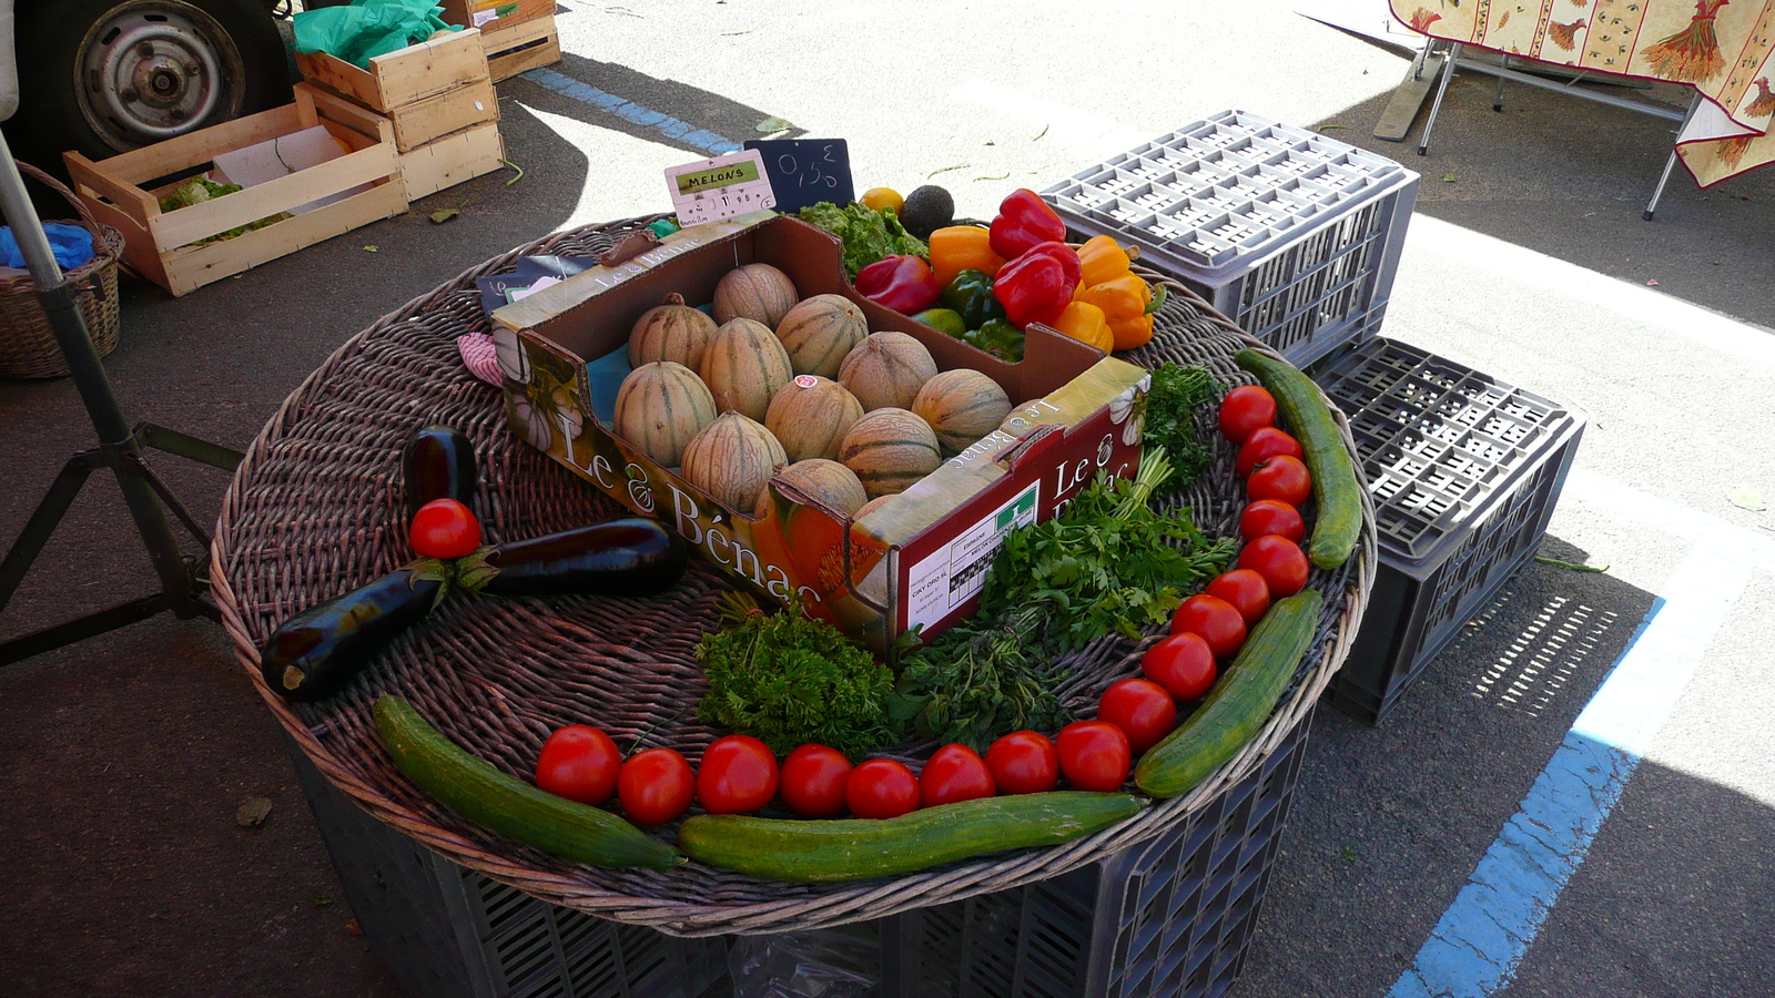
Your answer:
[[[703,636],[696,661],[708,677],[703,723],[777,755],[820,742],[854,756],[900,741],[902,725],[888,716],[893,671],[799,607],[744,614],[731,630]]]

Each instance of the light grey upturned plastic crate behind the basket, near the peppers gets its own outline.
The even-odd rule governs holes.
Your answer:
[[[1141,261],[1305,368],[1386,314],[1418,174],[1335,139],[1227,110],[1049,186],[1085,236]]]

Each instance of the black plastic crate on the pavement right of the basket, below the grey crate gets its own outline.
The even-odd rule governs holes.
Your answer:
[[[1583,417],[1399,341],[1314,375],[1349,417],[1374,495],[1381,563],[1326,694],[1377,725],[1541,545]]]

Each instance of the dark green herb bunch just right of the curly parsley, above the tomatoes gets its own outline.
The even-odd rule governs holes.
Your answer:
[[[889,698],[919,735],[985,751],[1005,732],[1056,732],[1072,712],[1054,696],[1065,678],[1028,643],[1033,607],[1005,620],[964,620],[912,655]]]

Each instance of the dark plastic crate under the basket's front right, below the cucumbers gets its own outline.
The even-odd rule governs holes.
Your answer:
[[[1051,881],[880,920],[882,998],[1225,994],[1257,927],[1310,721],[1154,840]]]

